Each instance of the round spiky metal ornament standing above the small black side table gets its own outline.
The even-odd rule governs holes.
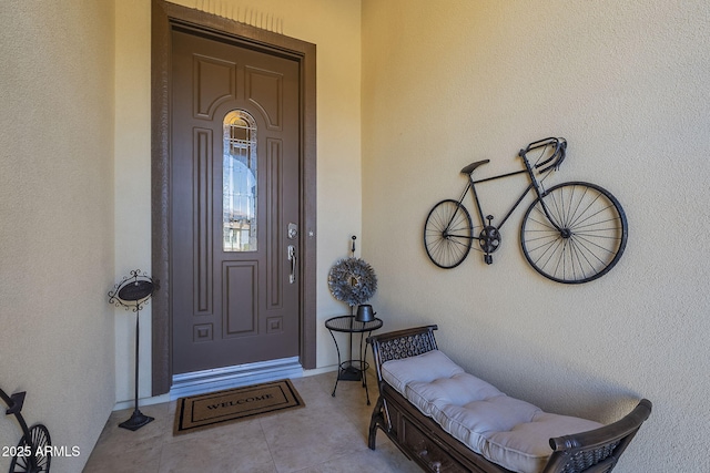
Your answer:
[[[328,274],[331,294],[341,302],[358,306],[377,290],[377,276],[372,266],[359,258],[341,259]]]

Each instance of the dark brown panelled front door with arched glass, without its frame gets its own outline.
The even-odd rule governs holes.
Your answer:
[[[300,354],[300,70],[172,31],[173,373]]]

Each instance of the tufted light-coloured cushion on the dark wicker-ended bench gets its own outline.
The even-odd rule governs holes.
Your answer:
[[[474,452],[518,473],[538,473],[552,453],[549,439],[598,429],[585,419],[544,412],[466,373],[445,353],[390,360],[383,379]]]

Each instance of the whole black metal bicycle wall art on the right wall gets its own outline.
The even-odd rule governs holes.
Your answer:
[[[619,261],[626,248],[628,224],[619,200],[605,188],[585,182],[567,182],[545,189],[542,182],[559,168],[567,153],[567,141],[549,137],[520,150],[520,171],[474,179],[474,172],[489,160],[477,161],[462,169],[468,183],[458,199],[444,199],[429,212],[424,225],[424,246],[432,261],[445,269],[455,268],[471,247],[493,263],[500,248],[504,224],[530,191],[535,202],[523,216],[520,246],[527,261],[540,275],[562,284],[581,284],[606,275]],[[527,174],[529,184],[503,218],[484,217],[476,185],[517,174]],[[470,191],[478,225],[464,206]],[[476,245],[474,245],[476,244]]]

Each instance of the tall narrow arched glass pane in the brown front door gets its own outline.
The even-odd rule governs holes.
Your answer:
[[[243,110],[224,116],[222,228],[225,251],[256,251],[256,122]]]

